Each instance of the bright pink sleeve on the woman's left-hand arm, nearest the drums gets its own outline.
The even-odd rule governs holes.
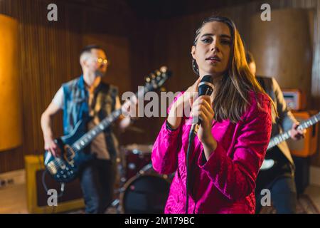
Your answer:
[[[174,98],[174,102],[181,95],[182,93],[179,93]],[[169,113],[174,102],[169,106],[167,113]],[[183,125],[182,122],[181,125]],[[181,125],[176,130],[169,130],[166,127],[166,121],[164,121],[151,153],[152,165],[156,172],[170,174],[176,171],[178,167],[178,147],[181,143]]]

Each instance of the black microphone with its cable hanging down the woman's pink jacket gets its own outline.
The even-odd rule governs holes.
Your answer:
[[[211,95],[211,93],[213,92],[213,79],[211,76],[203,76],[203,78],[201,79],[201,82],[199,83],[198,86],[198,94],[199,97],[201,95]],[[193,140],[194,138],[196,138],[196,135],[198,133],[198,129],[201,123],[201,119],[198,118],[194,118],[193,123],[191,125],[191,129],[190,129],[190,133],[189,133],[189,137],[188,137],[188,150],[186,152],[186,214],[188,214],[188,204],[189,204],[189,191],[190,189],[192,189],[191,187],[191,180],[190,180],[190,174],[191,174],[191,169],[190,169],[190,162],[189,162],[189,158],[190,158],[190,153],[191,153],[191,147],[193,145]]]

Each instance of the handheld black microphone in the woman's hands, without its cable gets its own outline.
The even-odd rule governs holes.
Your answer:
[[[213,79],[211,76],[203,76],[203,78],[201,79],[201,82],[199,83],[198,86],[198,94],[199,97],[201,95],[211,95],[213,92]],[[201,119],[198,118],[197,119],[193,119],[193,123],[191,126],[191,132],[193,135],[196,135],[198,133],[198,129],[201,123]]]

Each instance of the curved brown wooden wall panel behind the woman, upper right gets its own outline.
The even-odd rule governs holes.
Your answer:
[[[247,40],[247,48],[255,56],[257,75],[274,77],[282,88],[299,88],[306,95],[308,108],[313,46],[309,12],[312,13],[306,9],[274,10],[267,23],[255,14],[248,23]]]

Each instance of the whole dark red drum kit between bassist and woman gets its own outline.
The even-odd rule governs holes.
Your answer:
[[[119,187],[112,202],[117,213],[163,213],[173,175],[159,175],[151,165],[152,145],[121,147]]]

